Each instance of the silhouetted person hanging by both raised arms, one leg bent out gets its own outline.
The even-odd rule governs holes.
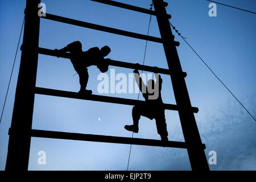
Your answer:
[[[133,125],[125,125],[125,129],[138,133],[139,119],[141,118],[141,115],[151,120],[155,118],[156,129],[158,130],[161,140],[168,141],[166,118],[164,116],[164,107],[161,96],[162,78],[158,73],[155,73],[156,84],[154,80],[148,80],[146,86],[142,81],[141,76],[139,76],[138,69],[135,69],[134,73],[139,90],[141,90],[142,96],[145,98],[146,102],[133,107]]]

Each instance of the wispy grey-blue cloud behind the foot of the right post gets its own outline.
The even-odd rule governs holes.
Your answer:
[[[256,113],[255,98],[246,102],[252,114]],[[256,170],[256,122],[233,100],[209,113],[197,125],[207,146],[207,159],[209,151],[217,152],[217,164],[209,165],[210,170]],[[165,169],[190,170],[184,152],[166,150],[162,154],[170,161]]]

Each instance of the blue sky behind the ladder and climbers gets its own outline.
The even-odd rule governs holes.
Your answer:
[[[147,33],[150,15],[102,5],[92,1],[42,1],[50,14],[84,20],[133,31]],[[149,8],[150,0],[119,1],[130,5]],[[170,0],[167,13],[171,22],[187,38],[187,41],[208,63],[209,67],[226,83],[232,92],[256,115],[255,84],[255,19],[256,16],[244,11],[217,5],[217,17],[208,16],[209,2],[204,0]],[[222,3],[242,9],[256,11],[253,0],[222,0]],[[7,84],[13,64],[16,44],[23,20],[26,1],[0,1],[0,104],[5,99]],[[151,36],[160,36],[156,18],[152,17]],[[187,72],[185,81],[192,106],[199,107],[195,114],[197,126],[205,154],[217,152],[217,164],[212,170],[255,170],[256,169],[256,123],[228,93],[219,81],[209,72],[199,58],[179,38],[175,40],[181,66]],[[41,19],[39,46],[49,49],[62,48],[79,40],[82,49],[108,45],[113,60],[130,63],[143,62],[146,41],[127,38],[70,26],[68,24]],[[20,51],[18,51],[9,96],[0,124],[0,169],[5,169],[8,129],[11,125],[15,86],[18,77]],[[145,65],[168,68],[162,44],[148,42]],[[127,76],[133,70],[115,68],[115,73]],[[97,93],[100,73],[96,67],[89,69],[88,89]],[[110,71],[106,72],[110,75]],[[39,55],[36,86],[77,92],[78,76],[68,59],[57,59]],[[162,75],[162,98],[165,103],[175,104],[169,76]],[[137,99],[138,94],[104,94],[113,97]],[[140,96],[142,100],[142,97]],[[73,133],[113,135],[131,137],[123,129],[131,124],[132,106],[101,102],[72,100],[50,96],[35,97],[33,129],[67,131]],[[169,140],[184,141],[179,115],[166,110]],[[101,121],[98,121],[101,118]],[[23,122],[23,121],[20,121]],[[136,138],[160,139],[156,133],[155,121],[142,117]],[[127,144],[81,142],[59,139],[32,138],[30,162],[31,170],[126,170],[130,146]],[[46,165],[38,164],[38,151],[46,151]],[[17,151],[17,155],[19,152]],[[22,156],[20,156],[22,158]],[[130,170],[191,170],[187,151],[177,148],[133,146],[131,149]]]

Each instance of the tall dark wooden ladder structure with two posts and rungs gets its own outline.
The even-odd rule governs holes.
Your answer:
[[[15,102],[13,109],[13,118],[11,127],[9,129],[9,146],[6,161],[6,171],[27,171],[28,159],[30,155],[31,137],[42,138],[57,138],[57,139],[71,139],[71,140],[86,140],[93,142],[109,142],[109,143],[123,143],[123,144],[138,144],[145,146],[164,146],[187,148],[191,168],[193,171],[209,171],[207,158],[204,153],[205,144],[201,142],[199,130],[197,129],[195,116],[199,110],[197,107],[192,107],[189,100],[187,86],[184,77],[187,76],[182,71],[179,56],[177,54],[176,46],[179,42],[174,41],[169,20],[171,15],[166,13],[166,6],[168,5],[163,0],[153,0],[155,11],[143,9],[141,7],[127,5],[125,3],[110,1],[110,0],[91,0],[100,3],[105,3],[112,6],[121,7],[140,13],[155,15],[158,20],[161,38],[137,34],[134,32],[118,30],[115,28],[105,27],[98,24],[82,22],[75,19],[65,18],[57,15],[46,14],[46,16],[38,16],[38,5],[40,0],[27,0],[25,9],[24,35],[22,44],[22,55],[20,59],[20,68],[18,82],[16,86]],[[104,135],[92,134],[77,134],[65,133],[59,131],[44,131],[32,129],[32,115],[34,109],[35,94],[44,94],[48,96],[76,98],[80,100],[91,100],[100,102],[111,102],[115,104],[136,105],[144,101],[130,100],[125,98],[106,97],[98,95],[81,96],[75,92],[66,92],[62,90],[53,90],[36,87],[36,72],[38,67],[38,54],[49,56],[57,56],[55,51],[46,48],[39,48],[39,26],[40,18],[49,19],[57,22],[73,24],[75,26],[92,28],[98,31],[105,31],[112,34],[129,36],[131,38],[149,40],[152,42],[162,43],[166,54],[168,68],[148,67],[146,65],[124,63],[121,61],[109,60],[109,65],[116,67],[124,67],[131,69],[140,69],[143,71],[166,74],[171,76],[172,86],[174,89],[174,96],[176,105],[164,104],[165,109],[176,110],[179,113],[181,127],[185,142],[162,142],[154,139],[140,139],[140,138],[126,138],[126,137],[112,137]],[[68,53],[58,55],[60,57],[69,58]],[[24,107],[26,104],[26,107]],[[17,151],[18,154],[17,154]]]

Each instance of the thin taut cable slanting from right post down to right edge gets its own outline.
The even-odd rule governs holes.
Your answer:
[[[169,23],[171,24],[171,22],[169,22]],[[196,53],[196,55],[199,57],[199,59],[200,59],[201,61],[203,61],[203,63],[207,66],[207,68],[210,70],[210,72],[213,73],[213,75],[218,79],[218,81],[220,81],[221,84],[222,84],[223,86],[225,86],[225,88],[229,91],[229,93],[232,94],[232,96],[233,96],[234,98],[236,98],[236,100],[237,100],[237,101],[239,102],[239,104],[243,107],[243,109],[245,109],[245,110],[247,111],[247,113],[251,116],[251,118],[253,118],[254,121],[256,121],[255,118],[253,117],[253,115],[251,115],[251,113],[246,109],[246,107],[243,106],[243,104],[238,100],[238,98],[237,98],[236,96],[234,96],[234,94],[230,91],[230,89],[228,88],[228,86],[226,86],[226,85],[224,84],[224,82],[221,81],[221,79],[212,71],[212,69],[210,69],[210,67],[208,66],[208,64],[205,63],[205,61],[204,61],[204,60],[202,59],[202,57],[195,51],[195,49],[193,49],[193,47],[190,46],[190,44],[187,42],[187,40],[185,40],[185,38],[184,38],[183,36],[181,36],[181,34],[176,30],[176,28],[175,28],[172,24],[171,24],[171,26],[172,26],[172,28],[174,28],[174,30],[177,32],[177,34],[185,41],[185,43],[188,44],[188,46],[192,49],[192,51]]]

